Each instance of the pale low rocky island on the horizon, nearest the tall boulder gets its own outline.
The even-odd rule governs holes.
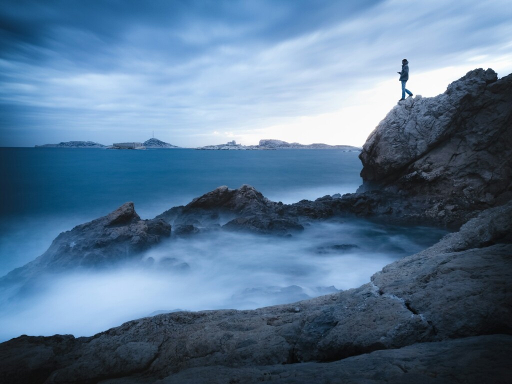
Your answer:
[[[258,145],[242,145],[237,144],[236,141],[229,141],[226,144],[207,145],[196,148],[197,150],[296,150],[296,149],[310,149],[310,150],[344,150],[348,152],[361,151],[361,147],[352,145],[329,145],[322,143],[314,144],[299,144],[288,143],[283,140],[264,139],[260,140]]]

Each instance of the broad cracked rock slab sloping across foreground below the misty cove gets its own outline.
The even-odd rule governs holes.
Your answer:
[[[407,351],[426,351],[428,346],[421,343],[443,340],[448,349],[462,346],[451,340],[454,337],[510,335],[512,292],[507,286],[512,279],[512,244],[506,233],[511,217],[512,203],[489,209],[433,247],[385,267],[368,284],[291,305],[162,314],[74,340],[12,339],[0,345],[0,359],[9,362],[0,374],[16,377],[16,369],[28,375],[31,369],[39,372],[50,366],[47,382],[52,383],[109,377],[154,382],[196,367],[252,372],[263,369],[257,366],[327,362],[412,345],[416,346]],[[493,227],[482,230],[489,222]],[[473,347],[465,352],[461,347],[459,357],[447,366],[456,372],[468,369],[473,351],[486,350],[478,340],[473,339]],[[66,348],[59,347],[62,344]],[[24,353],[13,353],[20,346]],[[502,369],[503,354],[493,351]],[[398,356],[395,353],[400,355],[396,351],[373,356]],[[348,364],[343,361],[338,364]],[[379,361],[372,363],[373,372],[388,364],[385,358]],[[406,371],[423,369],[421,361],[410,364]],[[282,372],[293,371],[294,366]],[[223,372],[231,372],[228,368]]]

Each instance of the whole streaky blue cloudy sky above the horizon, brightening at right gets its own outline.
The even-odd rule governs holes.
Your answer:
[[[362,145],[408,88],[512,72],[509,0],[3,0],[0,146]]]

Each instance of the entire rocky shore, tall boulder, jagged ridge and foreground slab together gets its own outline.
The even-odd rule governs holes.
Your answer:
[[[346,291],[255,310],[178,311],[91,337],[0,344],[5,383],[509,383],[512,353],[512,74],[477,69],[408,98],[370,135],[354,194],[294,204],[218,187],[142,220],[133,203],[61,233],[0,279],[15,297],[47,273],[97,268],[205,231],[300,236],[364,217],[450,228],[437,244]],[[260,142],[261,143],[261,142]],[[72,246],[71,246],[72,244]]]

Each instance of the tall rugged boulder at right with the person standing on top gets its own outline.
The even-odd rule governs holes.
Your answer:
[[[359,191],[430,198],[440,221],[503,204],[512,198],[510,105],[512,74],[498,80],[492,69],[468,72],[439,96],[400,102],[363,146]]]

